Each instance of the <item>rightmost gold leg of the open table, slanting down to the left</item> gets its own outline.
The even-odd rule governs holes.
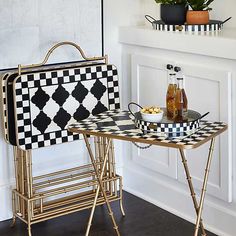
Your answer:
[[[194,236],[198,236],[199,225],[201,223],[201,216],[202,216],[204,199],[205,199],[205,195],[206,195],[207,181],[208,181],[208,177],[209,177],[209,173],[210,173],[211,161],[213,158],[214,145],[215,145],[215,138],[213,138],[211,140],[211,144],[210,144],[210,148],[209,148]]]

